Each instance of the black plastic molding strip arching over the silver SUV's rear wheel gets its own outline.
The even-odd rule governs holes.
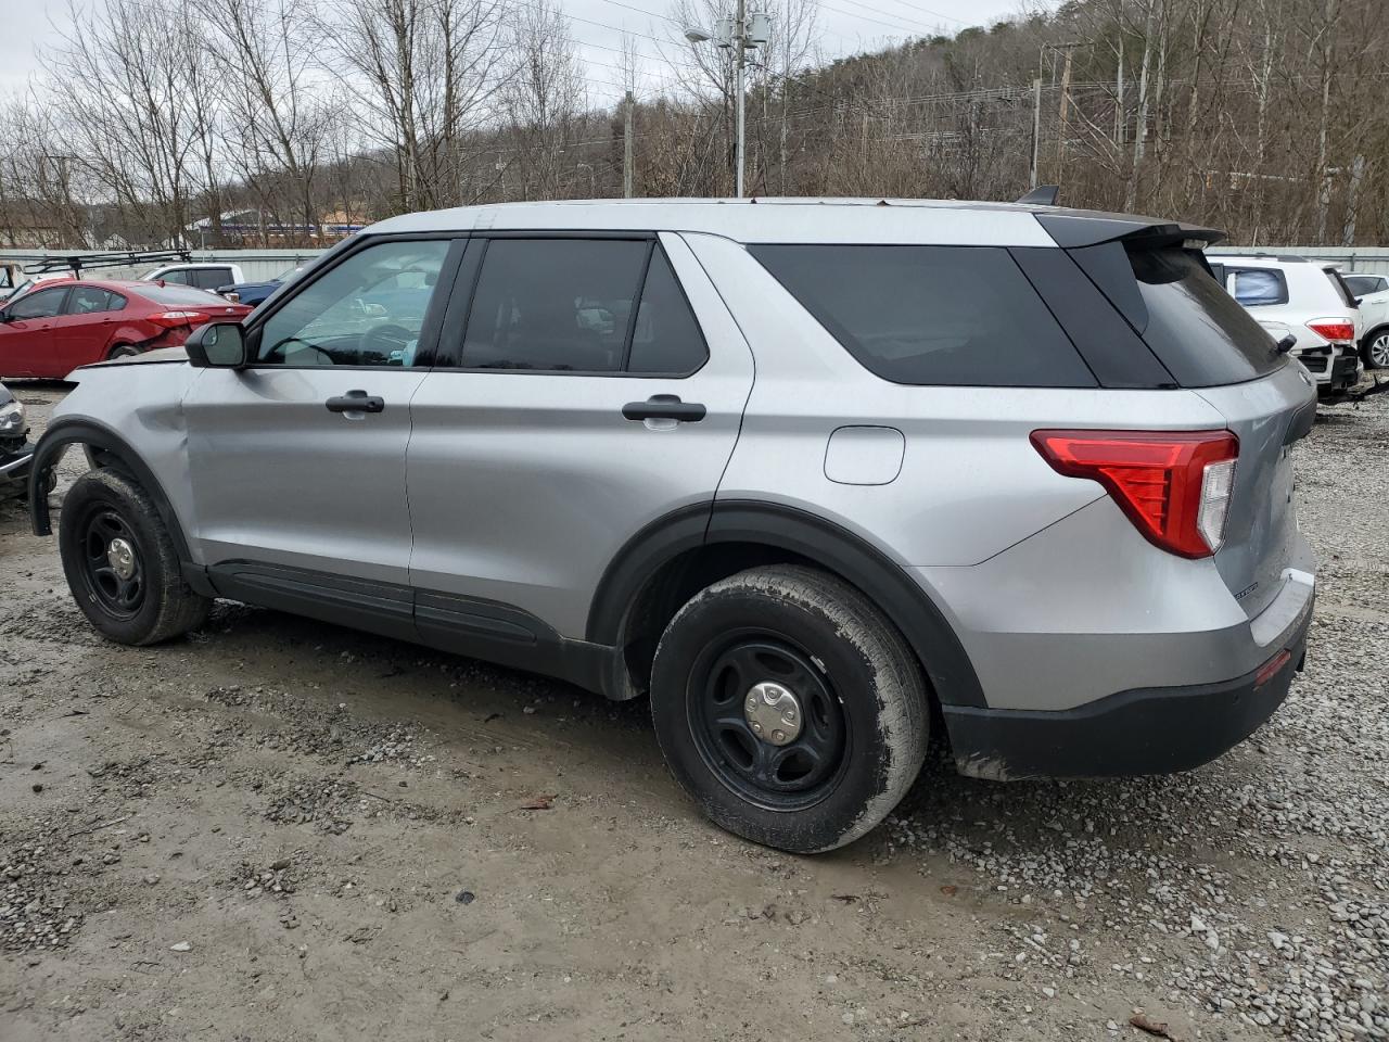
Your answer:
[[[588,642],[621,652],[633,611],[665,570],[678,567],[689,552],[735,545],[779,550],[835,572],[897,625],[943,704],[988,704],[964,645],[931,595],[900,564],[833,521],[764,500],[686,506],[640,529],[617,553],[594,590]],[[607,686],[610,695],[621,688],[615,681]]]

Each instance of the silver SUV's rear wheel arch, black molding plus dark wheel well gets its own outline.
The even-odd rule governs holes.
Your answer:
[[[724,500],[674,511],[638,532],[600,581],[588,639],[617,649],[607,690],[644,689],[656,642],[697,590],[758,564],[800,563],[867,596],[911,646],[939,702],[988,703],[964,646],[942,610],[897,563],[842,525],[796,507]]]

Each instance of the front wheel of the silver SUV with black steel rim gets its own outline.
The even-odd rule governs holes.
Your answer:
[[[149,493],[96,470],[63,499],[58,552],[93,627],[122,645],[153,645],[207,618],[211,602],[183,582],[178,552]]]

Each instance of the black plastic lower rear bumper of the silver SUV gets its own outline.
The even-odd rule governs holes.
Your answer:
[[[1200,767],[1254,734],[1283,703],[1303,665],[1306,627],[1283,649],[1282,668],[1257,686],[1256,671],[1221,684],[1125,690],[1051,713],[943,706],[956,767],[996,781]]]

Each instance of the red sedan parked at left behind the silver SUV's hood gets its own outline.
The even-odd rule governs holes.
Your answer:
[[[63,379],[78,365],[178,347],[214,318],[242,318],[246,304],[163,282],[61,282],[0,307],[0,377]]]

